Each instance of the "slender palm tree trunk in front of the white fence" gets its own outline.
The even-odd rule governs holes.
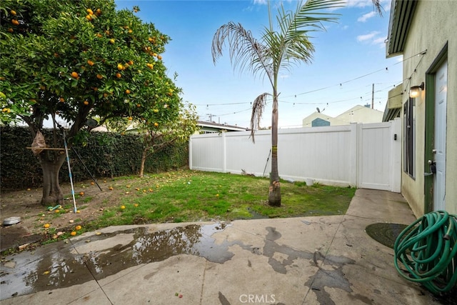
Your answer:
[[[278,96],[273,90],[273,112],[271,114],[271,174],[268,189],[268,204],[281,206],[281,184],[278,172]]]

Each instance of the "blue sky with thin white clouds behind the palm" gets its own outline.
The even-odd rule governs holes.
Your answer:
[[[274,1],[272,2],[274,3]],[[277,3],[277,2],[276,2]],[[284,1],[296,9],[296,1]],[[311,64],[283,71],[278,83],[280,128],[300,127],[303,118],[321,109],[337,116],[358,104],[384,110],[387,93],[401,84],[401,57],[386,59],[390,0],[381,1],[383,17],[375,14],[371,0],[348,0],[338,23],[327,23],[326,31],[313,34],[315,53]],[[260,39],[268,26],[265,0],[151,1],[116,0],[118,9],[139,6],[137,16],[151,22],[171,37],[163,56],[169,76],[176,72],[184,101],[197,106],[202,121],[248,127],[251,101],[271,93],[266,79],[233,70],[229,53],[214,65],[211,42],[214,33],[229,21],[239,22]],[[276,9],[272,10],[276,15]],[[325,110],[323,110],[325,109]],[[262,127],[271,125],[271,103],[266,106]]]

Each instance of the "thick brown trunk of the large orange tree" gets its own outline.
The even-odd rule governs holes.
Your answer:
[[[65,155],[60,154],[55,159],[49,159],[46,152],[39,154],[41,169],[43,170],[43,197],[41,205],[50,206],[64,203],[64,194],[59,185],[59,171],[64,164]]]

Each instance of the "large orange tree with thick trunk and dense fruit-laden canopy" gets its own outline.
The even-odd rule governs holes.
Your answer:
[[[133,121],[161,109],[158,124],[179,118],[180,90],[161,61],[169,37],[136,17],[137,7],[116,10],[112,0],[0,5],[2,124],[22,121],[35,137],[47,119],[54,136],[46,144],[63,147],[56,116],[70,126],[69,146],[81,139],[91,117]],[[44,174],[41,204],[62,203],[65,154],[45,150],[37,156]]]

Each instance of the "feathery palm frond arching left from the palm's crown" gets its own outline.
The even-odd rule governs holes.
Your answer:
[[[238,68],[241,72],[251,71],[255,74],[266,74],[272,81],[272,70],[268,49],[255,39],[251,31],[247,31],[241,24],[230,21],[221,26],[213,37],[211,54],[213,62],[222,56],[225,44],[229,45],[229,56],[233,69]]]

